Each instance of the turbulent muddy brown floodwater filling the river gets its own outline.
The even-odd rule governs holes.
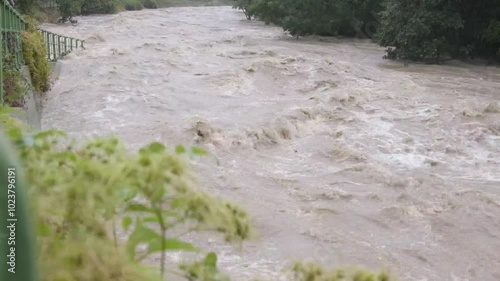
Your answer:
[[[500,280],[500,70],[382,59],[362,40],[295,40],[230,7],[79,18],[44,129],[198,145],[201,188],[257,230],[220,253],[234,280],[295,259],[400,280]]]

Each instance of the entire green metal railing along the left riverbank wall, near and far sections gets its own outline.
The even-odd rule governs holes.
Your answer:
[[[0,106],[3,105],[3,59],[5,55],[14,58],[17,69],[24,65],[21,32],[27,28],[27,23],[12,5],[6,0],[0,0]],[[45,5],[53,5],[55,1],[44,0]],[[45,39],[47,60],[57,61],[60,57],[74,49],[84,48],[84,41],[59,35],[47,30],[38,29]]]

